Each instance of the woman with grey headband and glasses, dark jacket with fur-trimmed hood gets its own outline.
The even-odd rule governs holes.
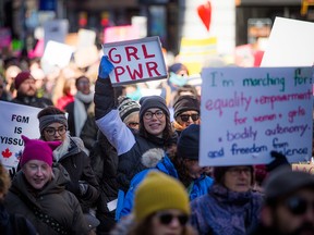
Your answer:
[[[62,141],[53,151],[53,161],[59,162],[68,171],[71,183],[67,185],[67,189],[76,196],[83,212],[89,212],[99,197],[99,185],[90,166],[89,157],[83,150],[82,139],[70,136],[65,114],[56,107],[43,109],[37,118],[43,140]]]

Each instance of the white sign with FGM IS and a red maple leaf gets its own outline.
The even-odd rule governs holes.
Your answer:
[[[24,143],[21,135],[39,138],[37,114],[41,109],[0,101],[0,161],[10,171],[15,172]]]

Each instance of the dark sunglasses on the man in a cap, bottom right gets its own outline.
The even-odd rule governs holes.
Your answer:
[[[302,215],[311,208],[314,211],[314,201],[307,201],[302,197],[291,197],[285,201],[285,206],[291,214]]]

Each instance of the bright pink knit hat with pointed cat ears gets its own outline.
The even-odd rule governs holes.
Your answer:
[[[39,139],[29,139],[22,135],[25,147],[20,160],[21,168],[31,160],[45,161],[52,165],[52,151],[61,145],[61,141],[43,141]]]

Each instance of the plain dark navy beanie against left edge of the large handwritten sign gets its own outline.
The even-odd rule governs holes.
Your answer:
[[[200,125],[192,124],[182,131],[177,146],[178,157],[198,160],[200,154]]]

